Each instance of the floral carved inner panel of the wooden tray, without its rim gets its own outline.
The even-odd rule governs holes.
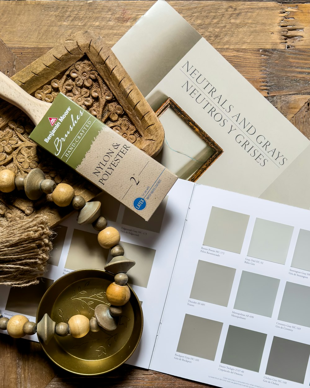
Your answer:
[[[87,57],[72,65],[59,79],[55,78],[38,89],[34,96],[39,100],[53,102],[59,92],[99,118],[131,143],[141,136]],[[65,182],[62,176],[68,174],[67,168],[55,161],[47,152],[39,149],[29,138],[33,128],[33,123],[23,113],[18,119],[10,120],[5,126],[0,127],[0,170],[9,169],[17,175],[26,175],[33,168],[41,168],[46,173],[48,165],[57,163],[59,173],[49,171],[46,177],[55,180],[57,184]],[[70,171],[70,175],[77,174]],[[87,184],[92,186],[88,182]],[[23,195],[24,193],[19,194],[21,198],[14,201],[12,194],[0,193],[0,217],[6,220],[18,219],[32,214],[36,211],[36,207],[41,208],[42,200],[39,200],[38,206],[35,206],[33,201]],[[53,208],[53,203],[49,199],[50,196],[47,196],[47,202]]]

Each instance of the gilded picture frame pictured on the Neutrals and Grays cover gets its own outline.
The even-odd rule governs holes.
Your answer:
[[[183,154],[183,155],[187,156],[188,158],[190,158],[191,161],[194,161],[194,164],[192,163],[192,166],[190,168],[186,168],[186,167],[181,168],[180,169],[181,172],[180,172],[180,171],[177,171],[175,166],[173,166],[173,168],[172,168],[172,166],[166,165],[164,163],[164,161],[162,160],[160,154],[159,154],[159,158],[157,157],[156,159],[160,163],[165,165],[167,168],[169,168],[172,172],[174,172],[179,178],[183,178],[183,179],[190,180],[191,182],[195,182],[207,170],[207,168],[209,168],[209,166],[211,166],[212,163],[214,163],[214,161],[216,161],[216,159],[218,159],[219,156],[221,156],[221,154],[223,153],[223,149],[213,139],[211,139],[211,137],[209,135],[207,135],[207,133],[204,132],[204,130],[202,130],[202,128],[200,128],[200,126],[197,125],[195,123],[195,121],[192,120],[192,118],[190,118],[188,116],[188,114],[185,113],[183,111],[183,109],[180,106],[178,106],[178,104],[176,104],[176,102],[173,99],[171,99],[170,97],[168,97],[168,99],[157,109],[157,111],[155,112],[156,116],[158,118],[160,118],[160,116],[162,116],[163,113],[168,110],[168,108],[171,108],[173,110],[173,112],[176,113],[177,116],[180,119],[182,119],[185,122],[185,124],[187,124],[187,126],[189,128],[191,128],[195,132],[195,134],[198,135],[198,137],[204,143],[206,143],[205,147],[208,151],[207,151],[207,153],[205,152],[204,155],[201,155],[201,158],[203,158],[204,161],[199,161],[199,160],[195,159],[194,157],[189,156],[187,153],[183,153],[183,152],[180,152],[180,151],[177,151],[177,150],[171,148],[170,144],[168,144],[168,141],[166,139],[166,135],[167,135],[166,129],[167,128],[165,128],[165,125],[162,121],[164,130],[165,130],[164,145],[166,143],[166,145],[168,145],[168,147],[171,151],[175,151],[174,155],[177,155],[176,153]],[[174,137],[175,137],[175,130],[173,130],[173,133],[174,133]],[[183,142],[184,147],[187,147],[187,145],[191,141],[191,139],[186,139],[183,137],[181,140]],[[200,144],[203,144],[201,140],[199,140]],[[198,163],[196,163],[196,162],[198,162]],[[197,169],[197,165],[199,166],[198,169]],[[193,171],[190,170],[193,168],[194,168],[194,173],[193,173]]]

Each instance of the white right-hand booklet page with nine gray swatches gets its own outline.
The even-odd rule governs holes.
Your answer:
[[[151,369],[310,383],[310,211],[195,184]]]

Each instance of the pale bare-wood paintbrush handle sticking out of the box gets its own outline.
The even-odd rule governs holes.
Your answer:
[[[50,108],[49,102],[32,97],[0,71],[0,97],[17,106],[31,118],[34,125],[38,125]]]

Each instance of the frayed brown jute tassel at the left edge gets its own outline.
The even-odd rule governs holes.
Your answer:
[[[44,216],[0,225],[0,284],[37,284],[47,267],[52,234]]]

